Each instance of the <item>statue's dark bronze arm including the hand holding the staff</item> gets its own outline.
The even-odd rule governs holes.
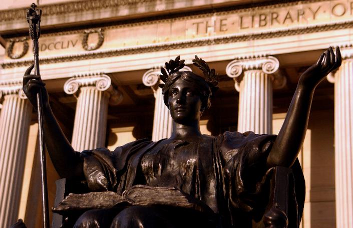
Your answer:
[[[30,74],[31,65],[25,72],[23,90],[37,110],[37,93],[42,91],[44,140],[55,169],[62,178],[85,179],[83,160],[73,149],[69,140],[56,120],[49,104],[49,96],[45,84],[39,75]]]

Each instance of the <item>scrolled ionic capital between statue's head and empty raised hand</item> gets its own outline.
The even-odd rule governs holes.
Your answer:
[[[259,56],[249,58],[237,58],[229,62],[226,67],[226,73],[235,81],[235,88],[240,91],[240,82],[243,79],[244,71],[262,70],[271,75],[274,88],[281,88],[286,83],[286,77],[279,73],[279,61],[273,56]]]

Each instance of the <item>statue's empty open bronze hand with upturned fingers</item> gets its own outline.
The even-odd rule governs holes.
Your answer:
[[[317,61],[311,65],[299,78],[298,85],[305,88],[315,89],[328,73],[337,69],[342,63],[339,47],[334,54],[332,47],[325,50]]]

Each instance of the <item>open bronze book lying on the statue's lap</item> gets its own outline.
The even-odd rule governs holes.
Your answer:
[[[213,213],[204,202],[182,192],[175,187],[150,187],[134,185],[122,195],[114,191],[89,192],[84,194],[70,193],[53,212],[64,214],[75,210],[113,208],[128,205],[169,205],[193,208],[201,212]]]

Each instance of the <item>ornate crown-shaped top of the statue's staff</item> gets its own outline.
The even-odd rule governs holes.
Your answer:
[[[37,5],[32,3],[26,14],[27,22],[30,25],[30,36],[33,40],[38,40],[41,35],[42,9],[36,7]]]

